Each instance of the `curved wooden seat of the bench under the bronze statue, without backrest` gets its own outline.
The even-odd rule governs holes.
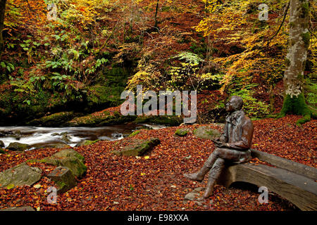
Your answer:
[[[217,184],[229,187],[237,181],[265,186],[300,210],[317,210],[317,183],[309,177],[286,169],[244,163],[225,167]]]

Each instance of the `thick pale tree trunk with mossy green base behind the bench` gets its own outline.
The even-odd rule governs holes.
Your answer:
[[[311,119],[303,90],[309,40],[309,0],[290,0],[290,43],[284,74],[285,97],[280,115],[304,115],[297,122],[299,124]]]

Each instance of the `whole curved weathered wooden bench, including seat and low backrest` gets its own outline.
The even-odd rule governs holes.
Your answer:
[[[276,155],[251,150],[252,158],[268,165],[243,163],[227,165],[217,184],[229,187],[235,182],[265,186],[296,205],[300,210],[317,210],[317,169]]]

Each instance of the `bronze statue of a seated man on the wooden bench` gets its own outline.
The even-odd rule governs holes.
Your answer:
[[[204,198],[213,193],[213,186],[225,166],[225,162],[241,163],[251,160],[251,147],[253,124],[242,110],[243,100],[240,96],[232,96],[225,105],[225,110],[230,113],[225,118],[223,134],[214,140],[216,149],[209,156],[204,166],[194,174],[184,174],[188,179],[201,182],[209,172],[208,184]]]

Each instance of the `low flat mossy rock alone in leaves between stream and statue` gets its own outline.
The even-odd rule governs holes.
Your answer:
[[[139,156],[144,155],[144,153],[149,152],[155,146],[159,145],[161,141],[156,138],[150,138],[147,140],[135,139],[132,144],[125,146],[121,150],[114,150],[112,153],[116,155],[126,155],[126,156]]]

